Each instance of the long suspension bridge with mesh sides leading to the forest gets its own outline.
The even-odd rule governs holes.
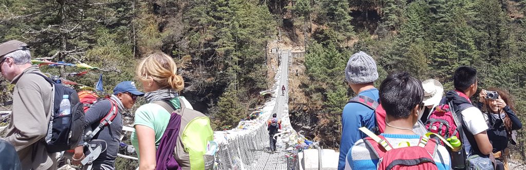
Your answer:
[[[273,86],[274,98],[261,108],[259,117],[241,121],[233,130],[214,133],[215,141],[219,144],[219,151],[216,153],[218,169],[296,169],[293,167],[297,161],[289,161],[285,156],[289,135],[296,134],[288,115],[288,67],[291,55],[290,50],[278,53],[280,64]],[[282,86],[286,87],[285,93],[281,93]],[[281,119],[284,132],[278,137],[277,152],[271,153],[266,121],[274,113]]]

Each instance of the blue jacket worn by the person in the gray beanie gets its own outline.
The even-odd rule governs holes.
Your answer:
[[[378,89],[372,88],[360,92],[358,95],[365,95],[371,99],[379,100]],[[338,170],[345,168],[347,152],[356,141],[366,137],[358,128],[367,127],[372,129],[376,126],[375,111],[360,103],[347,103],[341,114],[341,141],[340,158]]]

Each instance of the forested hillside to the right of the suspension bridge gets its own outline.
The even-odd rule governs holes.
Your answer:
[[[306,100],[291,110],[297,123],[325,146],[339,146],[341,111],[354,95],[343,69],[358,51],[377,60],[380,78],[376,84],[388,73],[408,71],[421,80],[437,79],[451,90],[454,69],[475,67],[479,89],[509,90],[521,120],[526,121],[522,1],[298,0],[290,4],[294,27],[306,28],[310,34],[301,63],[305,75],[299,76],[302,93],[292,95],[292,100],[294,95]],[[316,118],[305,118],[312,113]],[[517,148],[524,155],[524,131],[519,135],[522,141]]]

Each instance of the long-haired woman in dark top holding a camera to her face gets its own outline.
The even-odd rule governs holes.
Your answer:
[[[508,141],[513,145],[517,144],[514,131],[522,128],[522,123],[515,114],[511,95],[508,91],[498,88],[482,90],[479,94],[478,107],[483,114],[485,113],[493,155],[502,161],[504,169],[509,169]]]

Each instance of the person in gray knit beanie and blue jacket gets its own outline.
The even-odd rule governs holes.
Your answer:
[[[370,98],[378,102],[380,99],[378,89],[374,82],[378,79],[376,62],[371,56],[360,51],[353,54],[345,68],[345,79],[355,94]],[[349,148],[356,141],[366,137],[358,128],[373,129],[376,126],[375,111],[363,104],[348,102],[341,115],[341,141],[338,170],[345,168],[345,160]]]

